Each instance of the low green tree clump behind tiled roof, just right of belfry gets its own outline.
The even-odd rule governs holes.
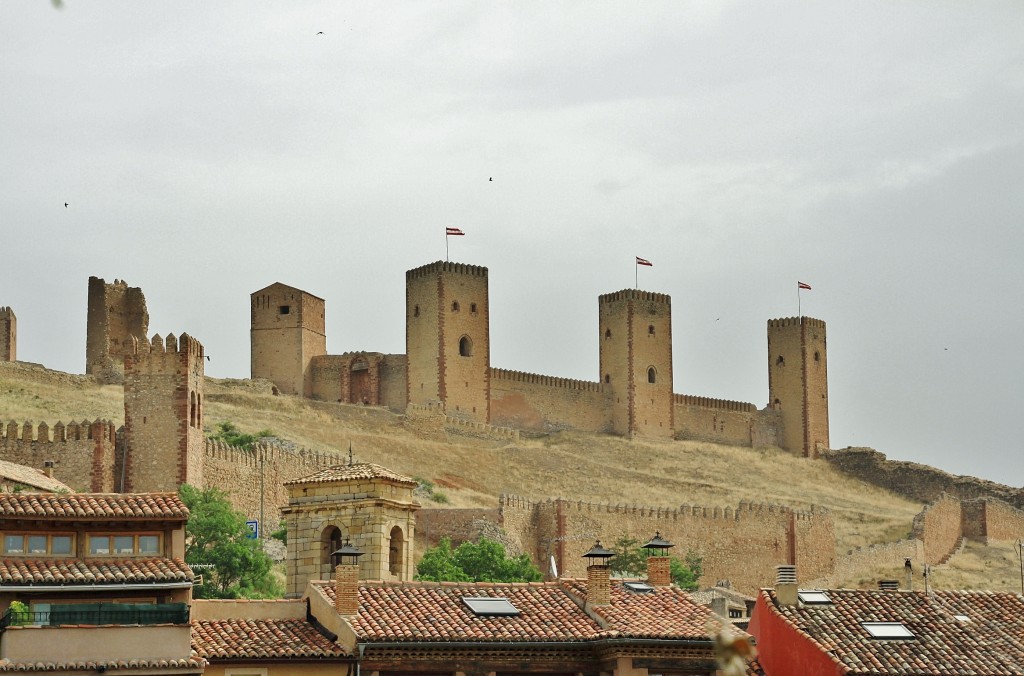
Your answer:
[[[455,550],[452,541],[441,542],[423,554],[416,566],[418,580],[434,582],[540,582],[544,579],[526,554],[509,558],[497,540],[480,538],[464,542]]]

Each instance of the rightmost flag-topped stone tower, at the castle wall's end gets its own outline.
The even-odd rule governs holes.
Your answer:
[[[782,448],[817,458],[828,448],[825,323],[768,320],[768,399],[782,416]]]

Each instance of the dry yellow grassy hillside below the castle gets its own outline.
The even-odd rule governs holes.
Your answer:
[[[357,461],[433,481],[453,507],[494,507],[502,493],[532,500],[563,497],[663,507],[735,507],[743,500],[797,508],[817,505],[833,511],[840,556],[855,547],[907,537],[923,507],[851,479],[825,462],[777,449],[630,441],[582,432],[518,441],[442,432],[428,436],[388,411],[273,396],[269,384],[260,381],[208,379],[206,392],[210,430],[229,420],[246,432],[269,428],[299,447],[347,454],[351,445]],[[121,423],[122,407],[119,386],[99,387],[84,376],[0,364],[4,422],[52,424],[98,417]],[[1006,552],[972,547],[970,554],[954,557],[943,580],[955,581],[958,587],[1019,589],[1016,560]],[[964,571],[956,568],[957,559],[964,559]],[[898,577],[899,572],[878,574],[872,579]],[[848,581],[858,583],[872,584],[870,579]]]

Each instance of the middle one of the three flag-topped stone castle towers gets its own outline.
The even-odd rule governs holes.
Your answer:
[[[599,296],[601,382],[608,392],[611,431],[671,438],[672,299],[626,289]]]

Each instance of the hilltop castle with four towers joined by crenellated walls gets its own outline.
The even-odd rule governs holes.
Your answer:
[[[672,299],[625,289],[598,297],[598,379],[494,368],[487,268],[437,261],[406,272],[406,354],[327,354],[325,301],[278,283],[251,295],[252,377],[285,393],[538,432],[828,448],[825,325],[768,322],[769,404],[675,391]]]

